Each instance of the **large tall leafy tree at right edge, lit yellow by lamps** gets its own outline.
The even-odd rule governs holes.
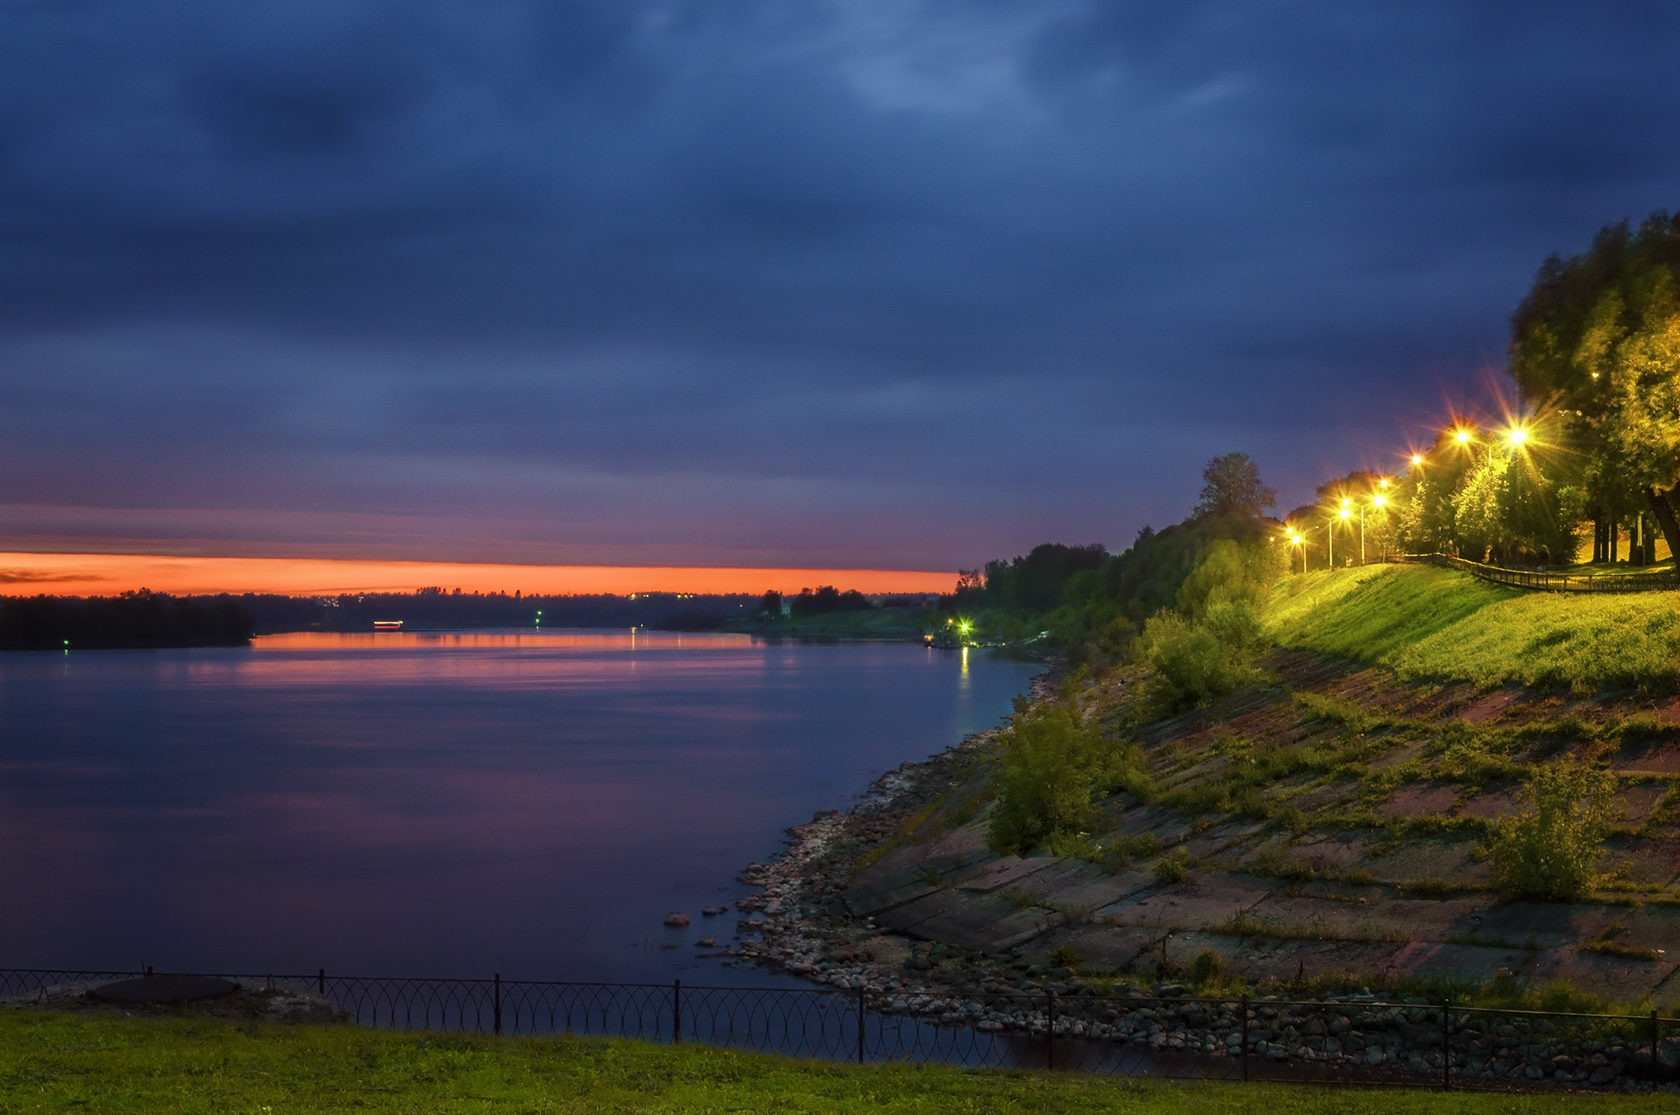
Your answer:
[[[1512,314],[1507,366],[1532,413],[1561,418],[1594,517],[1650,510],[1680,554],[1680,217],[1549,257]]]

